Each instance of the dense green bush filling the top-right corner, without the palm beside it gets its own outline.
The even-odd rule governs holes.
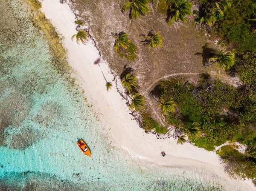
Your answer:
[[[205,9],[208,3],[213,0],[197,0],[201,9]],[[224,15],[217,15],[212,33],[220,37],[224,44],[229,44],[236,51],[256,51],[256,33],[253,31],[253,21],[255,18],[256,2],[252,0],[229,0],[231,7]]]

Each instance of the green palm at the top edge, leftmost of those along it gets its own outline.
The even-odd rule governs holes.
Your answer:
[[[148,2],[149,0],[131,0],[125,3],[122,11],[126,12],[130,10],[130,20],[136,20],[136,18],[140,19],[141,14],[148,14],[148,11],[150,11]]]

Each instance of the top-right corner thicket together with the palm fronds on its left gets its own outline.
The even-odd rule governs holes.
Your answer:
[[[255,1],[198,0],[198,3],[200,12],[196,21],[208,24],[216,21],[211,33],[219,36],[221,42],[239,53],[256,51]],[[208,20],[201,20],[203,16]]]

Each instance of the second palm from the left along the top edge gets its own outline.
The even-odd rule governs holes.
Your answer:
[[[186,22],[185,15],[191,14],[191,7],[192,3],[188,2],[187,0],[173,0],[172,3],[172,22],[177,21],[177,20],[182,20],[183,22]]]

